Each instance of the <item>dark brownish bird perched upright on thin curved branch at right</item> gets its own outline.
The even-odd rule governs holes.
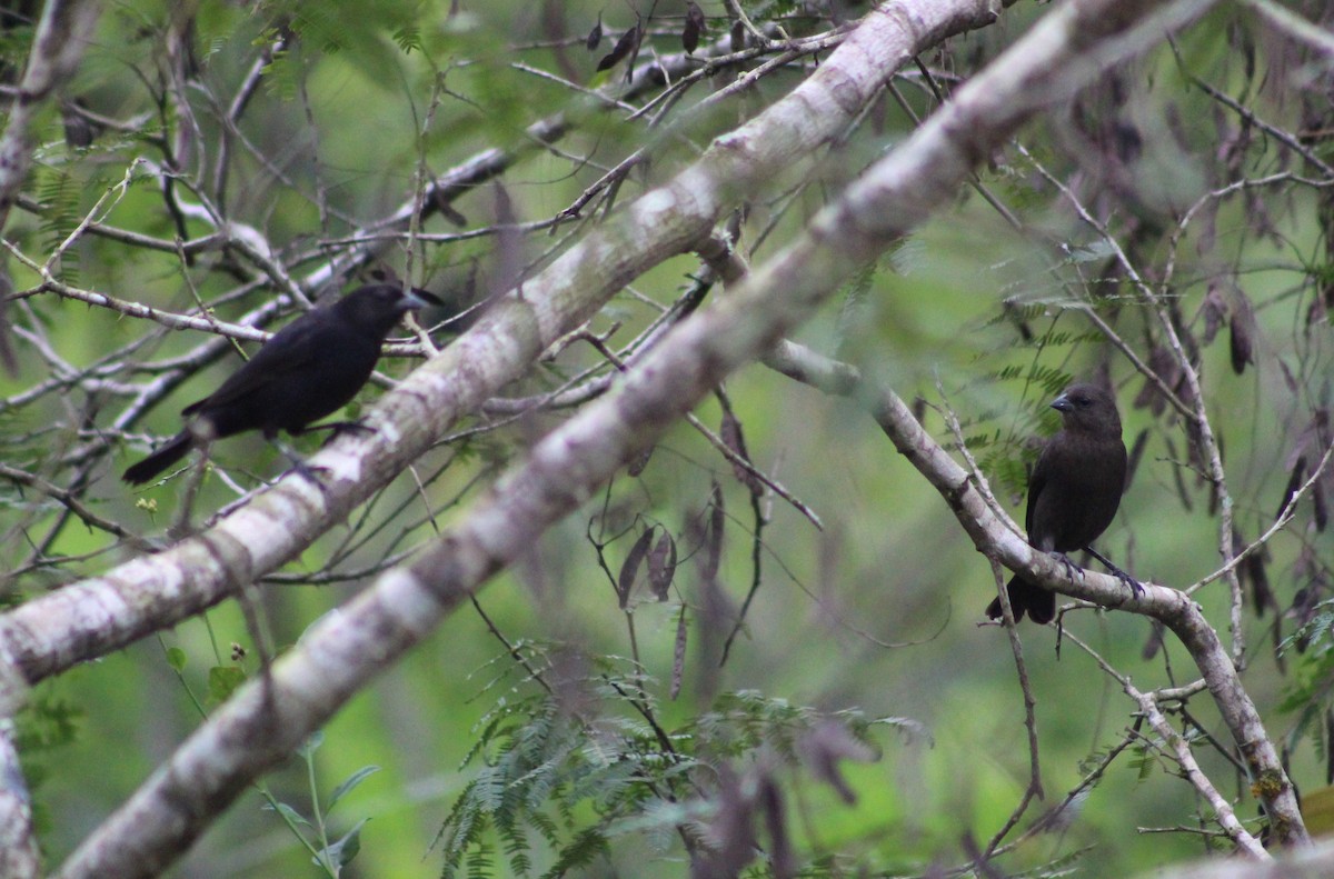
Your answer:
[[[1059,555],[1071,568],[1065,554],[1087,550],[1138,594],[1143,590],[1139,583],[1089,546],[1111,524],[1126,490],[1126,444],[1117,400],[1098,385],[1071,384],[1051,408],[1061,412],[1062,429],[1047,440],[1029,478],[1023,518],[1029,546]],[[1039,624],[1057,615],[1055,594],[1022,575],[1015,574],[1006,590],[1015,622],[1025,612]],[[1002,616],[999,598],[987,607],[987,616]]]

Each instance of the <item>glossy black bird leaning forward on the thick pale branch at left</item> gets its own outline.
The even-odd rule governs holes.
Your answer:
[[[356,396],[376,360],[380,343],[404,312],[438,304],[422,289],[398,284],[359,287],[339,301],[307,312],[279,329],[223,385],[181,415],[192,417],[180,433],[125,471],[127,483],[145,483],[189,450],[243,431],[296,435]]]

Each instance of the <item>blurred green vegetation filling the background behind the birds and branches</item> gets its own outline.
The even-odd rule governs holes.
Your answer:
[[[728,52],[724,4],[699,7],[706,29],[698,52]],[[792,35],[867,11],[788,1],[742,7],[758,25]],[[514,151],[520,159],[499,184],[464,192],[452,212],[428,205],[422,239],[387,236],[360,269],[388,268],[476,301],[495,292],[507,261],[540,268],[590,224],[615,221],[602,193],[582,216],[551,223],[634,149],[647,145],[652,157],[619,184],[616,205],[788,92],[822,60],[803,56],[779,67],[670,131],[646,120],[659,112],[664,123],[682,119],[763,57],[722,67],[646,116],[631,119],[630,111],[660,89],[595,109],[584,89],[608,95],[626,76],[627,60],[595,69],[626,29],[643,23],[635,64],[648,64],[682,52],[687,12],[676,0],[109,4],[67,89],[65,112],[53,108],[45,119],[27,200],[5,232],[13,287],[37,287],[40,276],[21,256],[43,261],[101,199],[108,199],[95,212],[101,224],[172,241],[207,235],[213,224],[188,211],[173,216],[171,201],[199,205],[219,193],[225,201],[213,208],[256,229],[300,279],[348,252],[351,239],[364,239],[358,229],[374,231],[411,204],[424,179],[479,151]],[[778,252],[932,111],[934,89],[952,89],[1047,12],[1025,0],[995,25],[954,37],[922,56],[920,67],[903,69],[843,141],[754,193],[742,251],[756,263]],[[599,21],[603,33],[590,49]],[[20,11],[4,32],[0,59],[21,65],[29,39]],[[251,104],[227,131],[223,109],[256,57],[277,43],[284,48],[267,61]],[[1249,109],[1238,113],[1201,83]],[[1021,520],[1029,439],[1055,427],[1047,403],[1070,377],[1111,381],[1127,447],[1138,455],[1102,550],[1141,579],[1186,587],[1221,559],[1210,487],[1181,419],[1142,393],[1143,377],[1087,312],[1114,327],[1169,384],[1179,371],[1165,353],[1161,315],[1198,344],[1237,526],[1243,543],[1255,539],[1274,520],[1297,458],[1314,464],[1330,442],[1323,419],[1331,303],[1331,177],[1255,120],[1289,133],[1311,157],[1334,160],[1329,83],[1327,61],[1253,11],[1223,5],[1026,129],[979,173],[984,192],[960,192],[951,209],[886,253],[798,337],[904,399],[919,399],[936,437],[948,436],[943,413],[958,417],[972,455]],[[175,92],[181,84],[184,92]],[[524,129],[555,112],[567,113],[571,131],[542,149]],[[132,167],[136,159],[143,161]],[[157,172],[172,169],[177,192],[168,197]],[[1283,172],[1315,183],[1294,176],[1239,188],[1206,200],[1182,229],[1206,192]],[[223,173],[225,185],[215,185]],[[1082,221],[1053,180],[1070,187],[1106,233]],[[520,233],[498,232],[511,220]],[[1162,295],[1161,308],[1137,295],[1110,241],[1143,269]],[[608,344],[623,344],[690,289],[700,268],[694,257],[664,261],[591,329],[615,329]],[[169,312],[207,303],[224,320],[281,292],[233,249],[185,259],[112,235],[80,235],[53,273],[72,287]],[[336,287],[308,292],[329,295]],[[77,491],[97,515],[136,535],[164,539],[180,515],[184,480],[131,491],[117,475],[152,437],[175,432],[177,409],[216,387],[235,357],[199,356],[200,332],[169,331],[49,292],[11,303],[11,319],[20,369],[0,377],[3,460]],[[447,341],[448,332],[438,339]],[[116,423],[135,388],[187,356],[196,360],[169,393],[132,423]],[[387,359],[382,369],[402,375],[411,365]],[[571,344],[508,395],[547,391],[586,369],[607,365],[592,347]],[[376,393],[364,393],[363,403]],[[699,417],[714,429],[740,429],[755,466],[807,504],[820,528],[771,494],[752,506],[750,484],[699,432],[679,425],[640,472],[618,479],[554,528],[531,559],[495,579],[476,608],[447,620],[387,671],[317,747],[312,743],[307,759],[269,775],[263,784],[269,799],[243,796],[173,875],[323,875],[297,835],[319,848],[360,822],[360,851],[342,868],[346,876],[435,875],[451,863],[460,875],[543,875],[562,855],[571,858],[571,875],[684,875],[674,827],[707,819],[718,806],[692,803],[694,788],[672,775],[646,716],[679,736],[676,759],[707,778],[704,788],[775,786],[802,875],[919,875],[967,864],[970,846],[984,846],[1018,803],[1029,771],[1005,631],[978,626],[994,592],[986,560],[856,400],[824,396],[760,365],[730,380],[726,399],[735,420],[718,401]],[[555,409],[516,420],[479,417],[419,460],[424,488],[400,478],[252,592],[272,643],[292,644],[355,594],[367,571],[464,515],[507,462],[566,416]],[[317,443],[303,439],[299,448]],[[193,502],[196,524],[284,466],[259,437],[228,440],[213,455],[217,471]],[[5,602],[60,588],[139,551],[85,527],[31,487],[0,484],[0,552],[12,572]],[[764,520],[758,532],[756,508]],[[659,602],[640,572],[628,600],[619,602],[622,566],[646,528],[655,528],[655,539],[672,535],[675,579]],[[718,620],[736,618],[756,578],[756,534],[760,586],[719,668],[727,627]],[[719,570],[708,576],[715,546]],[[1271,594],[1263,616],[1243,618],[1245,683],[1303,790],[1326,784],[1325,636],[1315,632],[1302,644],[1313,648],[1290,648],[1282,659],[1275,644],[1298,624],[1323,619],[1330,558],[1323,511],[1307,500],[1269,544],[1263,570],[1247,567],[1247,588],[1263,574]],[[1229,595],[1219,582],[1195,599],[1227,628]],[[682,626],[687,647],[676,671]],[[1194,678],[1171,638],[1150,648],[1159,636],[1143,618],[1086,610],[1069,615],[1066,626],[1141,688]],[[1026,827],[1123,742],[1134,706],[1073,640],[1058,651],[1051,630],[1025,626],[1022,636],[1047,791]],[[43,683],[23,740],[49,863],[256,668],[252,634],[227,603]],[[1197,699],[1189,714],[1178,720],[1201,739],[1203,767],[1251,819],[1249,780],[1225,754],[1231,746],[1213,707]],[[496,767],[524,734],[532,735],[532,762],[526,770],[510,766],[515,775],[504,776]],[[1210,747],[1203,734],[1222,747]],[[836,763],[843,782],[827,768],[839,756],[847,758]],[[379,771],[328,812],[324,842],[300,822],[293,832],[271,807],[284,803],[313,822],[344,780],[372,766]],[[618,766],[626,770],[619,778]],[[728,767],[738,774],[731,782]],[[1190,832],[1211,830],[1205,807],[1173,770],[1133,742],[1097,784],[999,862],[1005,872],[1070,867],[1077,875],[1130,875],[1211,850],[1207,835]],[[479,784],[491,783],[500,787],[487,799]],[[539,807],[507,806],[506,791],[523,791]],[[679,800],[662,799],[663,791]],[[488,803],[495,812],[486,811]],[[483,819],[491,822],[486,832]],[[766,832],[760,844],[780,848]],[[767,872],[762,863],[751,870]]]

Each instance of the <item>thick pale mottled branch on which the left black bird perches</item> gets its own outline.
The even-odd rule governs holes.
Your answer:
[[[790,95],[524,281],[522,295],[498,300],[384,399],[368,420],[374,435],[340,437],[321,451],[312,466],[329,474],[323,488],[301,476],[281,479],[195,538],[0,616],[0,644],[36,682],[169,627],[273,571],[523,375],[626,283],[688,251],[739,199],[838,136],[896,67],[952,33],[990,24],[994,15],[980,0],[900,0],[878,8]]]

